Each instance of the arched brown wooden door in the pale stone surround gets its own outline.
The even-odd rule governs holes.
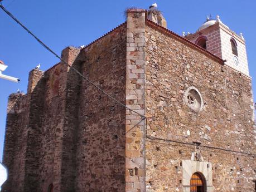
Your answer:
[[[199,173],[194,173],[190,179],[190,192],[206,192],[205,180]]]

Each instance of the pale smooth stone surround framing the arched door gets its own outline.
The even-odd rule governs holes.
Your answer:
[[[214,191],[212,186],[211,163],[207,161],[182,160],[182,189],[190,192],[190,179],[194,173],[199,173],[205,179],[206,191]]]

